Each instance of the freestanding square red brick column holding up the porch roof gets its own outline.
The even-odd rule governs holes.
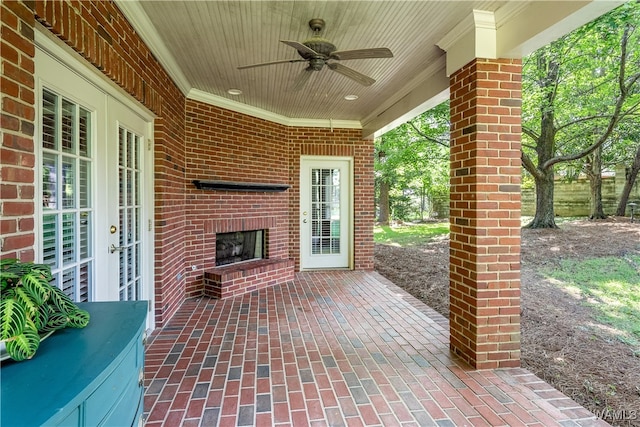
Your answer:
[[[520,60],[451,75],[451,350],[520,365]]]

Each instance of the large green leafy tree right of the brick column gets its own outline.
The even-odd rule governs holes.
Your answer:
[[[527,227],[557,227],[556,166],[594,153],[637,111],[638,22],[640,3],[629,2],[525,58],[522,164],[536,187]]]

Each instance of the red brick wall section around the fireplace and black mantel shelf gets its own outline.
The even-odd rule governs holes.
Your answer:
[[[268,257],[289,258],[288,191],[199,190],[192,183],[290,184],[288,133],[286,126],[193,100],[187,100],[186,129],[185,258],[188,266],[196,266],[188,273],[187,293],[198,295],[204,270],[215,267],[215,232],[228,220],[269,229]]]

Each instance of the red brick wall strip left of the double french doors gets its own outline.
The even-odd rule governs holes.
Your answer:
[[[3,1],[0,8],[0,254],[3,258],[33,261],[35,19],[20,2]]]

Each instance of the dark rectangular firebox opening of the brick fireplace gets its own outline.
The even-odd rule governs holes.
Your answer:
[[[216,266],[264,258],[264,230],[216,234]]]

